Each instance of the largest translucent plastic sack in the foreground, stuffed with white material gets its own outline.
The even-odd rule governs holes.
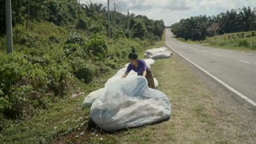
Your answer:
[[[105,131],[143,126],[170,116],[166,95],[149,88],[143,76],[117,79],[91,106],[92,120]]]

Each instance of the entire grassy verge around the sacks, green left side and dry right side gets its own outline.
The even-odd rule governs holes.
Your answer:
[[[162,41],[144,50],[156,47],[166,47],[164,37]],[[139,57],[142,58],[143,54],[141,51]],[[159,90],[168,96],[172,105],[171,119],[167,121],[106,133],[95,129],[96,125],[90,119],[90,110],[81,109],[84,96],[80,96],[59,101],[52,109],[43,110],[31,120],[13,125],[3,135],[5,143],[254,143],[255,133],[240,128],[246,123],[241,121],[238,113],[223,106],[223,103],[216,103],[215,93],[205,84],[204,79],[191,71],[175,53],[170,59],[155,60],[152,71],[159,82]],[[82,90],[86,92],[85,96],[90,91],[103,87],[107,77],[113,74],[114,72],[109,73],[102,78],[100,84],[84,87]],[[224,109],[220,109],[220,105]],[[243,133],[250,135],[241,135]]]

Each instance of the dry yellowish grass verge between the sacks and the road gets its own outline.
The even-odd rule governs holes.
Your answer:
[[[149,48],[165,46],[164,39]],[[147,49],[149,49],[147,48]],[[140,53],[140,57],[143,53]],[[216,94],[177,54],[152,65],[159,90],[171,101],[171,119],[112,134],[86,126],[55,144],[240,144],[254,143],[255,130],[234,109],[216,102]],[[221,106],[221,108],[219,108]],[[91,124],[87,124],[90,127]]]

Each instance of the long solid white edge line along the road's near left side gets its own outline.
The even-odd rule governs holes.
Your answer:
[[[171,48],[173,51],[175,51],[176,53],[178,53],[178,51],[174,50],[172,47],[170,47],[166,41],[165,44]],[[178,53],[179,54],[179,53]],[[179,54],[181,57],[183,57],[184,59],[186,59],[188,62],[192,63],[193,65],[195,65],[197,68],[199,68],[200,70],[202,70],[203,72],[205,72],[207,75],[211,76],[212,78],[214,78],[216,81],[218,81],[219,83],[221,83],[222,85],[224,85],[225,87],[227,87],[228,89],[230,89],[231,91],[233,91],[235,94],[237,94],[238,96],[240,96],[241,98],[245,99],[246,101],[248,101],[250,104],[252,104],[253,106],[256,106],[255,101],[251,100],[250,98],[244,96],[243,94],[241,94],[239,91],[235,90],[234,88],[230,87],[228,84],[226,84],[224,81],[221,81],[219,78],[217,78],[216,76],[212,75],[210,72],[206,71],[205,69],[201,68],[199,65],[197,65],[196,63],[192,62],[191,60],[187,59],[185,56]]]

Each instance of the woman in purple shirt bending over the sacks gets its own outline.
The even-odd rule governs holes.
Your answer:
[[[126,72],[122,75],[122,78],[125,78],[131,70],[138,73],[138,75],[144,76],[147,79],[149,88],[154,89],[154,78],[152,71],[147,67],[145,60],[138,59],[138,55],[134,48],[132,48],[132,53],[129,54],[129,63]]]

